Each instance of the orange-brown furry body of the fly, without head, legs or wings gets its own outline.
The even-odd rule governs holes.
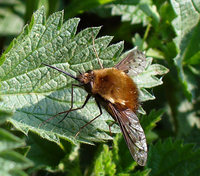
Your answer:
[[[133,80],[116,68],[93,70],[92,93],[120,106],[121,109],[138,108],[138,89]]]

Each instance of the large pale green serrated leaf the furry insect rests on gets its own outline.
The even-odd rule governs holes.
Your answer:
[[[69,113],[62,123],[58,123],[63,118],[61,115],[40,126],[46,119],[70,108],[71,84],[76,83],[42,63],[54,65],[74,76],[79,71],[99,69],[93,38],[97,36],[100,27],[87,28],[76,34],[78,23],[78,18],[63,23],[63,12],[56,12],[46,20],[44,8],[41,8],[1,56],[1,96],[4,102],[0,103],[0,108],[14,113],[10,122],[25,134],[31,130],[57,143],[60,137],[73,143],[77,143],[77,140],[93,143],[112,139],[108,135],[109,127],[106,123],[112,118],[105,111],[75,138],[80,127],[99,114],[93,99],[84,109]],[[104,67],[113,66],[123,50],[123,42],[108,46],[111,40],[112,37],[103,36],[94,41]],[[140,88],[150,88],[162,83],[155,77],[161,74],[161,66],[151,66],[151,61],[143,76],[138,81],[134,78]],[[145,81],[152,81],[140,83],[139,79],[143,77]],[[144,94],[145,91],[142,92]],[[84,103],[86,95],[83,89],[74,89],[74,108]],[[145,101],[152,99],[148,93],[143,97]]]

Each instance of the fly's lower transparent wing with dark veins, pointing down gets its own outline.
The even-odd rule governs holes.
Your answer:
[[[139,165],[144,166],[147,161],[147,144],[139,119],[130,109],[119,111],[111,103],[109,107],[119,123],[132,157]]]

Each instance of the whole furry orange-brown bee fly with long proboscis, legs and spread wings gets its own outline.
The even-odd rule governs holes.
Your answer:
[[[144,166],[147,161],[147,144],[144,131],[136,115],[139,104],[139,93],[136,84],[128,75],[137,75],[141,73],[145,68],[146,58],[142,52],[135,49],[117,65],[111,68],[103,68],[100,59],[98,57],[97,59],[101,69],[89,70],[83,74],[80,73],[77,77],[54,66],[44,64],[79,82],[78,85],[72,84],[71,108],[68,111],[60,112],[57,115],[65,114],[65,118],[69,112],[84,108],[88,100],[93,96],[100,113],[81,127],[80,130],[101,116],[101,106],[104,107],[113,117],[115,122],[119,124],[134,160],[139,165]],[[73,109],[74,86],[84,88],[88,95],[81,107]],[[53,118],[55,116],[53,116]],[[64,120],[64,118],[62,120]]]

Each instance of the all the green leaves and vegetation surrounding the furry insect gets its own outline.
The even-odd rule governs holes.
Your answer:
[[[199,175],[199,19],[198,0],[2,0],[0,175]],[[106,67],[135,46],[149,57],[133,78],[146,111],[139,115],[149,148],[145,167],[133,161],[117,125],[109,135],[106,112],[74,138],[98,114],[93,100],[63,123],[39,127],[70,107],[72,83],[41,62],[74,75],[99,68],[92,36]],[[74,94],[80,106],[86,93]]]

